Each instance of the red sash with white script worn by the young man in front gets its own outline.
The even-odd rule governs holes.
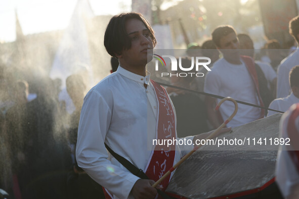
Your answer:
[[[161,85],[157,84],[153,80],[150,80],[153,84],[156,98],[158,102],[158,113],[157,113],[157,126],[156,126],[156,139],[166,140],[166,145],[156,145],[154,151],[151,153],[151,157],[145,168],[145,174],[151,180],[157,181],[161,178],[170,168],[173,168],[176,145],[169,145],[167,147],[168,139],[177,139],[176,136],[176,121],[175,112],[173,110],[172,103],[169,100],[167,91]],[[159,143],[159,142],[158,142]],[[160,184],[163,186],[164,191],[170,181],[169,175]],[[113,194],[103,187],[105,198],[112,199]],[[159,196],[160,197],[160,196]]]

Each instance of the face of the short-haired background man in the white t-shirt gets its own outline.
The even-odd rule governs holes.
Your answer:
[[[220,39],[218,49],[226,59],[239,59],[239,40],[237,35],[232,32]]]

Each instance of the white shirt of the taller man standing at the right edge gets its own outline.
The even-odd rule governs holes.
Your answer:
[[[277,92],[276,97],[286,97],[291,93],[289,84],[289,73],[294,66],[299,65],[299,49],[281,61],[277,73]]]

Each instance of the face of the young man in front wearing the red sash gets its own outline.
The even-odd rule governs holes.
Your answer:
[[[125,22],[125,30],[131,38],[131,48],[123,50],[121,55],[118,56],[121,66],[145,67],[148,61],[152,59],[153,42],[150,38],[149,30],[138,19],[127,20]]]

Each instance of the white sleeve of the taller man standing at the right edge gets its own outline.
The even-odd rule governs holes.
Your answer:
[[[278,68],[276,98],[286,97],[289,94],[289,70],[284,64],[281,64]]]

